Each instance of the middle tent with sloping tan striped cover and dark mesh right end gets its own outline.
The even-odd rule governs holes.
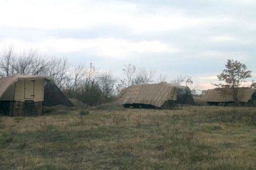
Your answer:
[[[139,84],[125,88],[117,103],[123,107],[171,109],[177,104],[195,104],[186,86],[170,83]]]

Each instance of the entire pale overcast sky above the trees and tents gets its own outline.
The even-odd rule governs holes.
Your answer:
[[[256,79],[255,9],[255,0],[0,0],[0,48],[92,62],[115,76],[131,63],[206,89],[227,59]]]

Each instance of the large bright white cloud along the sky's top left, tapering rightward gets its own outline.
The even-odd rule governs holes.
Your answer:
[[[11,9],[11,10],[10,10]],[[0,26],[43,29],[93,28],[123,25],[133,33],[188,28],[209,22],[179,12],[144,13],[131,2],[94,1],[4,1],[0,4]],[[220,20],[218,20],[220,22]]]

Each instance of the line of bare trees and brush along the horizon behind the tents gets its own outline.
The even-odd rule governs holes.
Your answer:
[[[89,67],[81,63],[72,65],[65,57],[49,57],[33,49],[17,53],[13,46],[2,50],[0,56],[0,77],[14,74],[48,76],[69,98],[77,98],[88,105],[111,101],[131,85],[167,82],[166,75],[156,77],[155,70],[130,63],[123,65],[122,72],[123,78],[115,78],[111,71],[100,72],[93,63]],[[200,88],[189,75],[177,75],[170,83],[188,86],[193,95]],[[255,87],[255,82],[251,87]]]

